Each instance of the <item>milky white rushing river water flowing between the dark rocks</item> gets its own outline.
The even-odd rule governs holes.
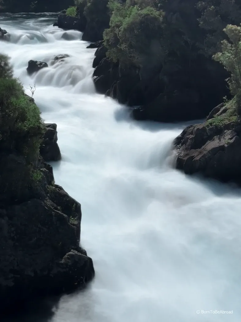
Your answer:
[[[53,22],[51,14],[0,16],[11,33],[0,52],[27,93],[36,85],[42,118],[58,125],[55,180],[82,204],[81,244],[96,271],[48,321],[240,322],[240,190],[176,171],[172,141],[185,125],[134,122],[96,94],[94,49],[77,31],[62,39]],[[49,64],[58,54],[70,57],[27,75],[28,60]]]

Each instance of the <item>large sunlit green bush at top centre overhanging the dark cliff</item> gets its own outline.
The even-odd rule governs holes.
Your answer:
[[[157,53],[158,59],[163,59],[166,48],[162,11],[150,6],[141,9],[140,3],[132,6],[113,0],[109,2],[109,9],[112,12],[110,28],[103,35],[107,56],[113,61],[137,65],[142,65],[150,53]]]

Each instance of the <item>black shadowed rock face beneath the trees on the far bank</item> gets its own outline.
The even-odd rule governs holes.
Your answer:
[[[106,52],[104,46],[95,52],[95,88],[101,94],[134,107],[132,116],[136,120],[174,122],[204,118],[221,101],[223,93],[227,94],[226,71],[206,58],[197,58],[196,67],[187,68],[184,77],[183,72],[171,74],[168,71],[165,75],[163,66],[156,61],[150,60],[141,68],[114,63],[106,57]],[[195,74],[201,74],[203,79],[190,81]]]

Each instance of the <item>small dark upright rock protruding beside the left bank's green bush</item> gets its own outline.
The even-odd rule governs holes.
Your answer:
[[[57,125],[55,123],[45,124],[46,132],[43,143],[40,146],[40,155],[44,161],[58,161],[61,159],[60,149],[58,147]]]

